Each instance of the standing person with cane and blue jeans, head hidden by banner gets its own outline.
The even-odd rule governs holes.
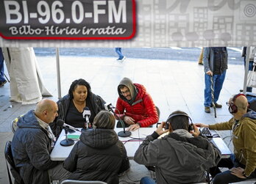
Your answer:
[[[217,103],[227,70],[227,48],[207,47],[204,48],[204,68],[205,68],[205,112],[210,113],[210,107],[215,103],[216,108],[222,106]],[[211,95],[211,77],[213,78],[213,95]]]

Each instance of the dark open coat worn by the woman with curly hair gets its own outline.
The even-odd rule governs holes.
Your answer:
[[[104,103],[105,101],[100,97],[99,95],[93,94],[93,92],[90,92],[90,95],[88,95],[88,100],[90,100],[90,104],[93,106],[93,109],[90,109],[90,111],[94,111],[95,114],[98,114],[99,111],[104,110]],[[55,136],[60,136],[62,127],[57,126],[57,120],[63,119],[65,121],[65,117],[68,114],[68,107],[71,103],[71,98],[69,95],[65,95],[60,100],[57,101],[58,105],[58,117],[54,120],[54,122],[50,123],[51,130],[54,133]]]

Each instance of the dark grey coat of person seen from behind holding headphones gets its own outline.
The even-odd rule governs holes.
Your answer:
[[[170,133],[162,139],[153,133],[135,152],[134,160],[146,166],[156,166],[157,183],[198,183],[204,172],[216,166],[221,152],[207,139],[187,138]]]

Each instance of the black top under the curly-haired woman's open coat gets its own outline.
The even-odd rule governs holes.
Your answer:
[[[90,109],[89,121],[93,122],[93,119],[96,116],[96,114],[94,113],[94,111],[91,110],[93,109],[93,107],[90,104],[90,100],[86,100],[86,104]],[[68,107],[67,116],[65,117],[65,123],[75,128],[85,127],[85,118],[82,117],[82,113],[77,110],[76,106],[74,106],[73,100],[71,100],[71,103]]]

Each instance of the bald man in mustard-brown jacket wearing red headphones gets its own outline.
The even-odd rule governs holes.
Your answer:
[[[248,101],[243,94],[231,97],[228,105],[233,115],[228,122],[214,125],[196,123],[196,126],[213,130],[232,130],[234,155],[222,158],[217,167],[210,169],[214,184],[256,178],[256,113],[248,108]],[[227,167],[230,170],[221,172],[218,167]]]

